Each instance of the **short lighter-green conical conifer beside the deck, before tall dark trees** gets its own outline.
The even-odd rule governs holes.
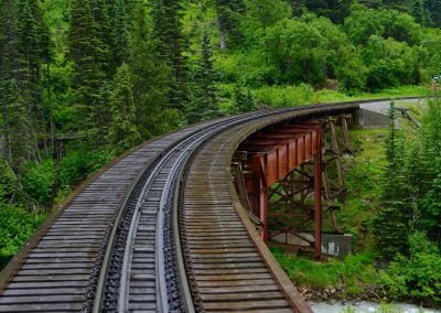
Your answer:
[[[128,150],[140,142],[136,121],[130,71],[122,64],[114,78],[110,95],[111,123],[109,141],[117,153]]]

